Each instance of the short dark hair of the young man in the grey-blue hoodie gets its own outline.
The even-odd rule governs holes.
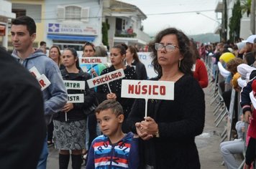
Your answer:
[[[19,16],[17,19],[12,21],[14,25],[26,25],[27,30],[29,31],[29,35],[35,34],[37,32],[37,26],[35,25],[34,19],[30,18],[29,16]]]

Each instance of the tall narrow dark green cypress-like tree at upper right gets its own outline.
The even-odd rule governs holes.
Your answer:
[[[229,21],[229,39],[232,42],[237,42],[240,37],[240,20],[242,18],[242,9],[240,6],[240,1],[238,0],[234,4],[232,9],[232,17]]]

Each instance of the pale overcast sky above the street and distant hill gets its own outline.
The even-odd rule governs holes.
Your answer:
[[[169,26],[181,29],[188,35],[213,33],[218,21],[221,21],[221,15],[217,16],[214,12],[218,0],[119,1],[137,6],[147,15],[142,23],[144,32],[151,36]],[[197,12],[200,13],[196,14]]]

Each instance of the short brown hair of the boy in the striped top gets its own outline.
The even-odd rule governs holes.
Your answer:
[[[124,115],[123,107],[120,105],[119,102],[116,100],[104,100],[104,102],[101,102],[101,104],[98,105],[95,109],[95,113],[99,113],[103,110],[111,109],[114,115]]]

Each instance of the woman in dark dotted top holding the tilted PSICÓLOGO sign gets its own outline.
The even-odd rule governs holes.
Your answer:
[[[124,65],[124,58],[126,54],[126,48],[124,44],[118,44],[111,48],[110,52],[110,60],[111,67],[104,69],[101,72],[101,75],[114,72],[117,69],[124,69],[125,77],[122,79],[137,79],[137,74],[134,70],[134,67],[130,67],[129,65]],[[132,104],[134,99],[122,98],[121,97],[121,87],[122,87],[122,79],[116,79],[112,82],[109,82],[109,87],[111,92],[109,91],[109,87],[106,84],[103,84],[98,87],[97,95],[99,95],[99,103],[104,100],[116,100],[118,101],[124,110],[124,123],[122,125],[123,132],[129,132],[129,127],[127,125],[127,117],[132,108]]]

